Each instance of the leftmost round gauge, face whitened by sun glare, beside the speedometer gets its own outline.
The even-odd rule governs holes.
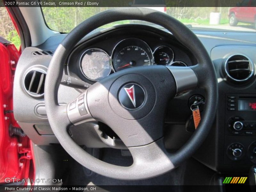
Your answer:
[[[102,49],[88,49],[81,57],[80,68],[86,78],[99,81],[111,72],[110,58]]]

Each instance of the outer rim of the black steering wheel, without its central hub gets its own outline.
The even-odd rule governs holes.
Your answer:
[[[129,150],[138,155],[130,167],[121,167],[102,162],[80,148],[68,135],[65,128],[70,124],[67,106],[58,105],[58,88],[63,74],[64,63],[73,47],[92,30],[119,20],[143,20],[168,29],[184,46],[195,55],[198,64],[191,67],[196,73],[198,87],[204,88],[206,101],[204,116],[196,132],[177,152],[169,154],[164,150],[163,139],[147,145],[130,147]],[[125,71],[125,70],[124,70]],[[80,164],[94,172],[107,177],[134,180],[154,177],[177,167],[192,156],[208,135],[217,109],[217,79],[209,54],[197,36],[180,21],[167,14],[146,8],[118,8],[101,12],[85,20],[74,28],[56,49],[50,62],[45,81],[45,105],[52,131],[63,148]],[[147,162],[148,169],[145,169]],[[159,164],[160,162],[160,164]]]

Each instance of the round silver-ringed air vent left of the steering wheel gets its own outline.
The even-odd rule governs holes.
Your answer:
[[[42,97],[44,95],[44,82],[46,71],[42,68],[32,68],[28,70],[24,77],[24,88],[32,97]]]

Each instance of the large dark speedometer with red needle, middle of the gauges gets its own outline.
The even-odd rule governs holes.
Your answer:
[[[119,42],[111,59],[115,71],[153,64],[153,54],[150,47],[137,38],[128,38]]]

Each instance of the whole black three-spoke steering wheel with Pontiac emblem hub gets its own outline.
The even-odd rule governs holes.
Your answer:
[[[121,70],[93,84],[76,100],[59,105],[58,88],[64,63],[86,34],[119,20],[143,20],[168,29],[197,59],[192,67],[143,66]],[[163,125],[167,102],[175,95],[203,88],[206,92],[201,122],[178,151],[164,147]],[[98,174],[138,180],[164,174],[192,156],[206,138],[217,108],[217,79],[212,61],[196,35],[180,21],[147,8],[118,8],[101,12],[74,28],[56,49],[45,81],[45,105],[52,131],[77,162]],[[128,167],[103,162],[85,152],[68,134],[68,127],[89,121],[107,124],[133,157]]]

